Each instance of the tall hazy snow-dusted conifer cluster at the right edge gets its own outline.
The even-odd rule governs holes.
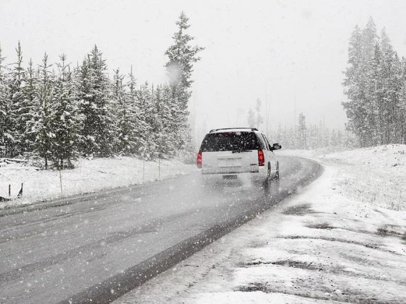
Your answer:
[[[372,18],[352,32],[343,86],[347,128],[361,146],[406,143],[406,59]]]

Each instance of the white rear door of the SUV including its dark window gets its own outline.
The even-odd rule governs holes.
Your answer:
[[[201,143],[203,174],[258,172],[258,148],[261,143],[250,132],[215,132]]]

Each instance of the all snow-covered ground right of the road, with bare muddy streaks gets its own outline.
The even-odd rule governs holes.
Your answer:
[[[116,304],[406,303],[406,211],[387,199],[404,180],[405,149],[311,155],[325,172],[300,195]],[[387,195],[371,201],[380,189]]]

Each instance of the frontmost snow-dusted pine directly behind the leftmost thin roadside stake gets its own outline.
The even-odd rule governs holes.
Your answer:
[[[49,130],[50,153],[54,167],[58,170],[72,168],[72,160],[78,157],[81,117],[74,96],[72,73],[66,63],[66,55],[59,56],[59,73],[54,81],[50,105]]]

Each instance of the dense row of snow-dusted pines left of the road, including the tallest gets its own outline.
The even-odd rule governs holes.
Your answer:
[[[79,156],[171,158],[193,151],[187,118],[193,63],[203,48],[191,46],[188,18],[176,22],[165,55],[168,84],[138,85],[119,69],[113,79],[94,46],[81,64],[65,55],[51,64],[45,54],[23,64],[20,43],[14,63],[0,46],[0,157],[37,159],[44,168],[71,168]]]

